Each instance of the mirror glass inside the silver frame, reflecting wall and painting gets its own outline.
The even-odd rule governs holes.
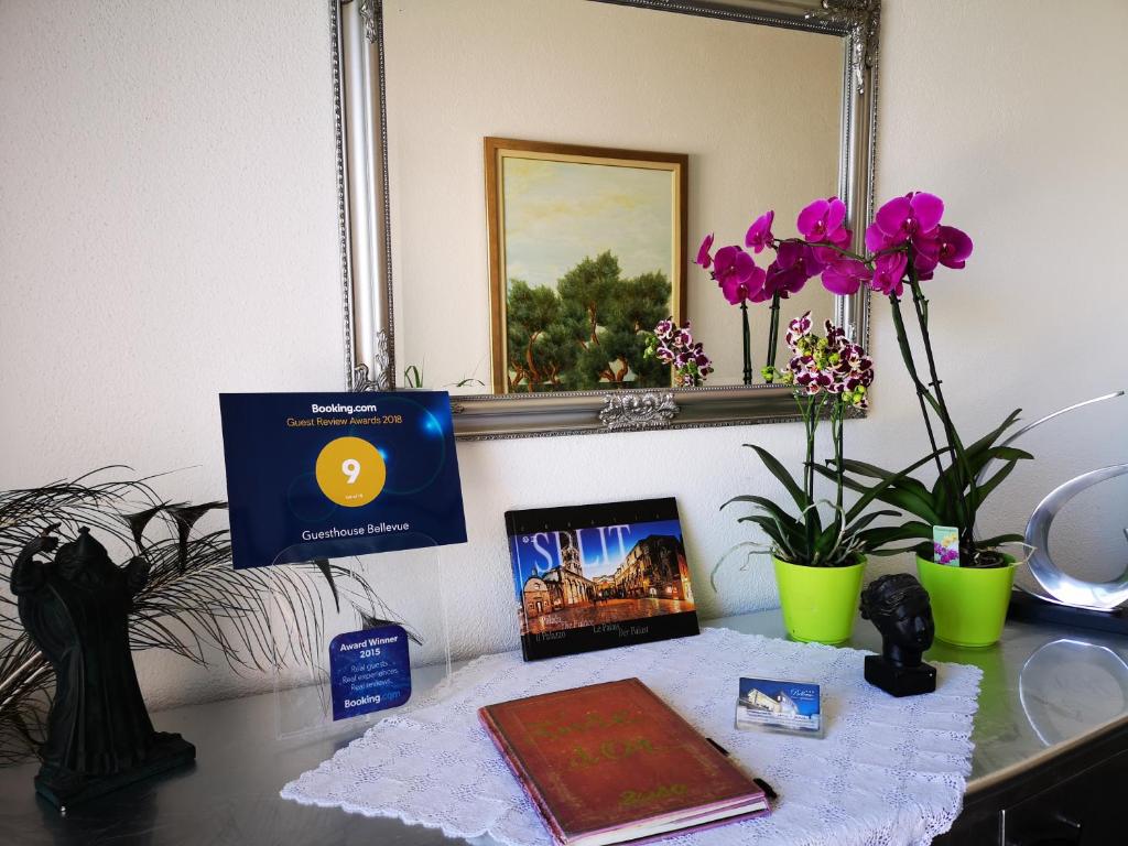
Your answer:
[[[590,0],[412,0],[384,5],[384,44],[397,378],[669,386],[642,332],[675,315],[712,359],[706,385],[743,384],[740,309],[691,258],[768,209],[794,235],[807,202],[843,190],[844,38]],[[540,158],[487,179],[487,138]],[[835,317],[818,280],[782,318],[809,309]],[[758,379],[767,303],[750,317]]]

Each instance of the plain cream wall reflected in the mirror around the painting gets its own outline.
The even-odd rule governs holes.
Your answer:
[[[837,191],[837,38],[588,0],[412,0],[386,6],[385,39],[396,353],[430,386],[491,384],[486,135],[688,153],[690,257],[714,229],[742,244],[769,208],[794,235]],[[740,384],[739,309],[700,268],[687,280],[710,382]],[[832,317],[834,298],[812,284],[787,308]]]

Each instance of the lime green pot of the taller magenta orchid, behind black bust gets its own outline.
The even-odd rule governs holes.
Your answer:
[[[951,567],[917,556],[917,573],[932,599],[938,640],[957,646],[998,642],[1019,567],[1013,557],[1006,558],[1006,566],[981,569]]]

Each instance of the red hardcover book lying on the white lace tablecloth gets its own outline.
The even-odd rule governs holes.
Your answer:
[[[559,844],[642,840],[768,812],[764,791],[638,679],[478,715]]]

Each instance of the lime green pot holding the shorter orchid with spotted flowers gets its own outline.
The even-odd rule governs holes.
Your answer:
[[[849,640],[865,558],[849,567],[807,567],[772,556],[787,634],[796,641]]]

